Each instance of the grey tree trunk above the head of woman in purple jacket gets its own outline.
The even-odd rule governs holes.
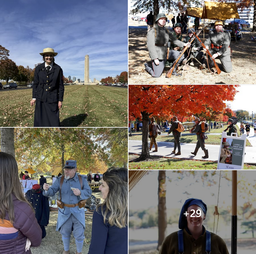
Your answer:
[[[15,158],[14,128],[1,128],[1,152],[9,153]]]

